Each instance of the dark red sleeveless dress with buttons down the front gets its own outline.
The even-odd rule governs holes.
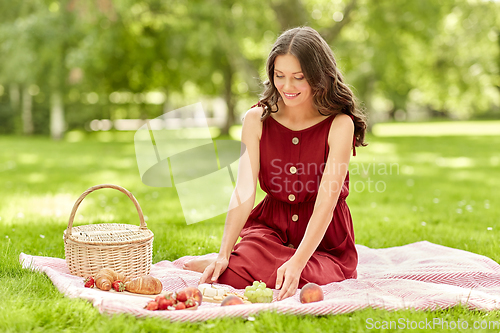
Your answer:
[[[268,117],[260,140],[260,187],[266,197],[252,210],[219,283],[243,289],[262,280],[276,284],[276,270],[295,253],[312,215],[327,161],[328,133],[335,115],[293,131]],[[351,213],[345,201],[349,173],[333,218],[302,271],[299,288],[356,278],[358,256]]]

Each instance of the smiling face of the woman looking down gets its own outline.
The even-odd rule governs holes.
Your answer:
[[[312,104],[312,89],[307,82],[299,60],[291,55],[279,55],[274,60],[274,86],[278,89],[286,106]]]

